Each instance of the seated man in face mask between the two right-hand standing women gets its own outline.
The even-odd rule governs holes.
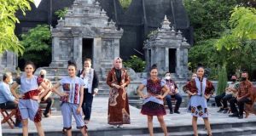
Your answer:
[[[164,80],[164,82],[165,82],[166,86],[170,89],[169,94],[166,95],[166,103],[168,105],[168,108],[170,109],[170,114],[173,114],[172,98],[175,98],[177,100],[175,108],[174,108],[174,113],[180,114],[178,109],[179,109],[179,106],[182,103],[182,97],[178,93],[177,84],[174,81],[172,81],[172,79],[171,79],[171,73],[170,72],[166,72],[166,79]]]

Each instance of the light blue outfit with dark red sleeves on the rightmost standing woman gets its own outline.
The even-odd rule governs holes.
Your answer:
[[[212,82],[208,81],[207,78],[195,78],[188,82],[183,90],[189,91],[192,95],[189,99],[188,110],[191,112],[192,116],[197,117],[208,117],[208,109],[207,109],[207,99],[205,98],[206,95],[212,95],[214,92],[214,87]]]

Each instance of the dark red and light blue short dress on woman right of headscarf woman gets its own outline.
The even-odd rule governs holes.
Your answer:
[[[155,96],[162,94],[162,88],[165,82],[157,79],[153,81],[151,79],[144,80],[143,85],[147,88],[147,93],[151,96],[143,101],[143,107],[141,113],[148,116],[164,116],[166,115],[166,109],[163,99],[158,99]]]

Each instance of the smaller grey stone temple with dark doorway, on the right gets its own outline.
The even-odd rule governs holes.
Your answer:
[[[176,31],[166,16],[161,28],[152,31],[144,42],[147,69],[151,65],[158,66],[160,74],[170,71],[177,78],[188,77],[189,43],[181,31]]]

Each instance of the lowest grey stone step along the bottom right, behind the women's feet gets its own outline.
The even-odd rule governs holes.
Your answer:
[[[242,126],[251,126],[251,123],[243,122],[243,123],[232,123],[232,124],[213,124],[212,126],[212,135],[216,136],[230,136],[230,135],[251,135],[256,134],[256,122],[253,122],[252,127],[242,127]],[[230,127],[230,125],[232,127]],[[193,135],[193,129],[192,126],[178,126],[178,127],[167,127],[168,128],[168,135],[172,136],[191,136]],[[129,130],[130,129],[130,130]],[[112,130],[101,130],[98,131],[89,131],[90,136],[98,135],[101,136],[107,136],[107,135],[113,135],[113,136],[148,136],[148,128],[117,128]],[[198,125],[198,133],[200,136],[207,135],[207,130],[204,130],[204,125]],[[122,133],[122,134],[120,134]],[[162,130],[160,127],[154,127],[154,136],[163,136],[164,133],[162,133]]]

